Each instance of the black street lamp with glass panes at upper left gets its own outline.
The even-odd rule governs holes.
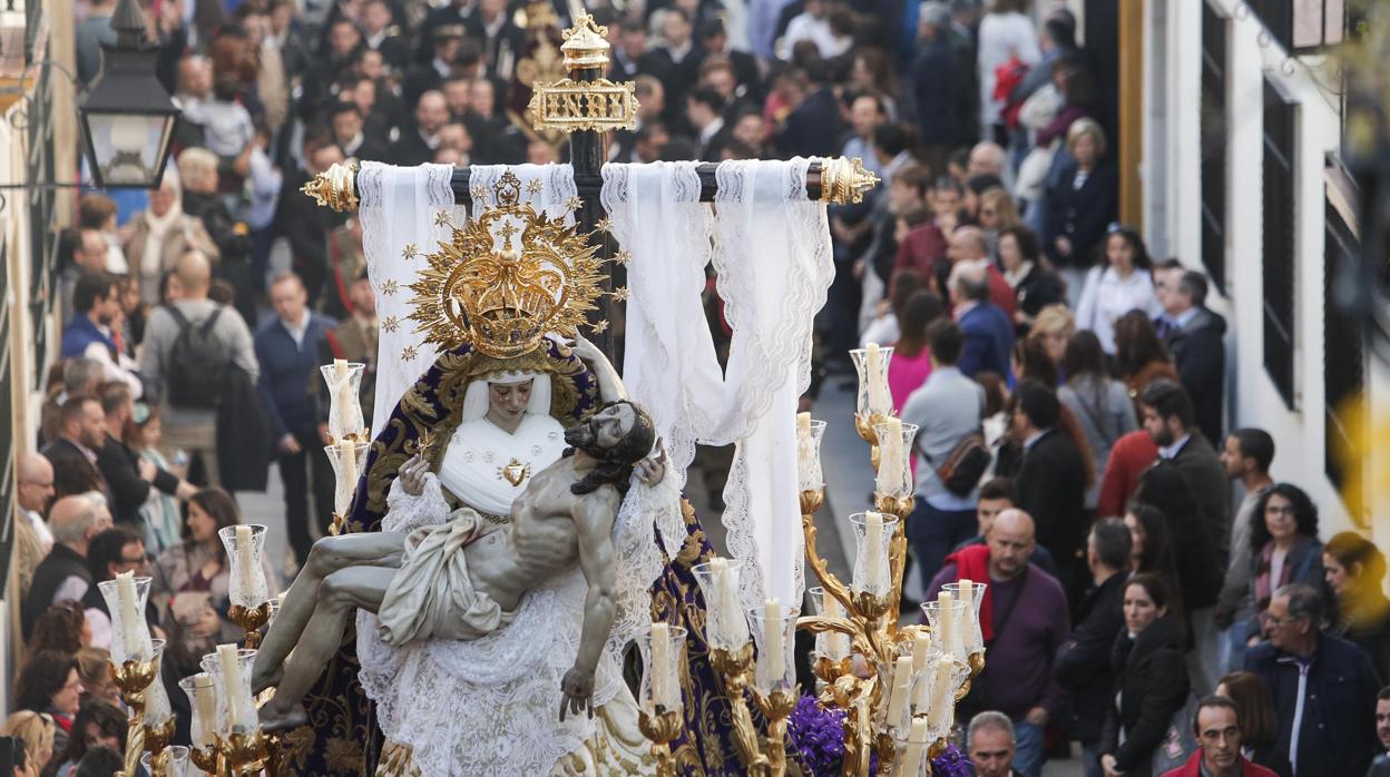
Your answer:
[[[115,44],[101,46],[101,72],[78,108],[92,182],[97,188],[158,188],[179,108],[154,78],[136,0],[111,17]]]

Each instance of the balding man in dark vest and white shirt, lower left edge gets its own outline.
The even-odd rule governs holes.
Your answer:
[[[92,538],[111,528],[111,512],[100,493],[76,493],[53,503],[49,513],[53,530],[53,552],[39,569],[21,609],[24,637],[29,638],[33,623],[58,602],[78,602],[92,585],[86,552]]]

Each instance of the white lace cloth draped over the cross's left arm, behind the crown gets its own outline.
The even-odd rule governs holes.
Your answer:
[[[530,181],[541,182],[541,192],[531,202],[538,211],[545,210],[552,217],[564,213],[564,203],[578,193],[574,168],[569,165],[474,165],[470,170],[474,214],[486,204],[495,204],[492,186],[506,170],[521,179],[523,199],[530,196]],[[417,334],[414,321],[410,321],[409,303],[414,293],[409,286],[424,267],[424,256],[450,236],[446,225],[435,224],[435,215],[445,211],[455,225],[468,220],[466,210],[455,206],[449,185],[452,177],[453,165],[449,164],[395,167],[374,161],[363,163],[357,174],[361,242],[367,254],[367,275],[377,293],[377,320],[381,321],[373,438],[381,434],[396,403],[438,356],[438,349],[425,345],[425,334]],[[418,256],[407,259],[407,246],[414,246]]]

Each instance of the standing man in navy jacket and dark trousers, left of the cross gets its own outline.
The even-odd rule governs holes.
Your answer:
[[[270,286],[275,320],[256,332],[257,388],[270,416],[271,436],[279,450],[285,484],[285,524],[289,543],[303,564],[313,545],[309,530],[309,492],[313,482],[314,516],[327,528],[334,507],[334,473],[324,453],[327,425],[318,423],[318,353],[336,321],[307,309],[304,285],[292,272]],[[313,477],[313,481],[309,478]]]

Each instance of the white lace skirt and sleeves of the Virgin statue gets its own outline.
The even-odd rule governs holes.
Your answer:
[[[648,488],[634,475],[619,510],[616,619],[599,660],[595,706],[627,692],[623,649],[649,628],[649,588],[662,573],[652,521],[678,521],[678,499],[674,478]],[[386,503],[384,531],[436,525],[449,513],[434,474],[414,498],[396,481]],[[381,730],[414,749],[414,764],[425,777],[549,774],[562,756],[584,746],[598,720],[559,720],[560,680],[578,652],[587,591],[575,569],[527,594],[512,624],[493,634],[402,648],[385,645],[377,617],[359,612],[359,678],[377,703]]]

